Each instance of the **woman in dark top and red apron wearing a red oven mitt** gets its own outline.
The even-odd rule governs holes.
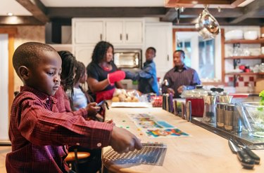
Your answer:
[[[116,88],[123,88],[120,81],[125,72],[118,70],[113,63],[113,45],[106,41],[96,44],[92,54],[92,62],[87,66],[87,83],[89,90],[96,95],[96,102],[112,99]]]

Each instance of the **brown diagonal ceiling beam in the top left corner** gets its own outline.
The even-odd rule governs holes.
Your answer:
[[[32,13],[33,17],[42,22],[43,24],[46,24],[46,22],[49,22],[49,18],[46,16],[46,7],[42,4],[39,0],[15,0],[18,1],[19,4],[21,4],[24,8],[27,9],[27,11],[30,11]]]

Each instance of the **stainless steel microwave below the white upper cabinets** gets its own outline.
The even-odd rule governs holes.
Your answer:
[[[120,69],[141,69],[141,49],[116,49],[113,57],[115,65]]]

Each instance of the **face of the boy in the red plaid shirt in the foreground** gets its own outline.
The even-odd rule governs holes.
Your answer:
[[[40,56],[39,64],[29,68],[26,85],[46,95],[55,95],[61,84],[61,57],[56,51],[42,51]]]

